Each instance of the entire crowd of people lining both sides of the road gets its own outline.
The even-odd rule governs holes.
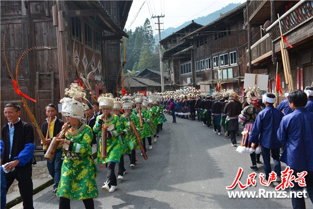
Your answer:
[[[313,202],[313,87],[307,87],[304,92],[286,93],[286,100],[277,108],[273,106],[276,101],[273,93],[261,96],[257,86],[249,87],[245,92],[243,103],[233,90],[210,95],[187,89],[148,96],[136,93],[121,98],[102,94],[90,104],[84,90],[71,84],[65,90],[67,97],[60,101],[66,121],[57,117],[54,104],[48,104],[45,107],[47,117],[41,126],[42,133],[47,136],[43,145],[52,144],[54,139],[59,144],[53,158],[47,161],[48,172],[54,179],[53,192],[60,197],[59,208],[70,208],[70,200],[82,200],[87,209],[94,208],[93,198],[98,196],[96,163],[107,168],[101,189],[114,192],[117,180],[123,180],[126,173],[124,155],[129,156],[129,167],[135,168],[136,149],[140,148],[141,155],[146,156],[146,139],[148,149],[152,149],[152,141],[156,142],[162,124],[166,122],[164,113],[173,116],[173,123],[177,122],[176,117],[190,120],[197,117],[203,126],[213,127],[217,135],[222,135],[223,127],[223,135],[230,137],[232,146],[237,147],[236,136],[242,135],[236,151],[250,155],[253,170],[258,170],[257,164],[262,163],[262,153],[266,181],[271,173],[270,153],[277,181],[282,180],[281,162],[295,173],[306,171],[307,190]],[[5,207],[6,191],[15,179],[19,181],[23,208],[33,208],[34,130],[22,121],[21,111],[16,103],[4,106],[8,123],[1,132],[1,209]],[[243,126],[241,133],[240,125]],[[96,163],[92,158],[92,146],[97,149]],[[268,182],[268,186],[273,186],[272,182]],[[292,189],[300,190],[301,187]],[[305,207],[304,199],[293,197],[292,206]]]

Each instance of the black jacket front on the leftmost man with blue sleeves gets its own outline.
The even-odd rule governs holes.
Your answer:
[[[3,161],[2,164],[9,163],[14,161],[15,157],[18,157],[22,150],[25,148],[25,144],[34,143],[34,129],[33,127],[20,120],[17,123],[14,123],[14,134],[13,134],[13,145],[11,150],[11,158],[9,159],[10,154],[10,131],[9,125],[5,124],[2,127],[2,140],[4,142],[3,150]],[[30,160],[26,165],[31,165],[32,161]]]

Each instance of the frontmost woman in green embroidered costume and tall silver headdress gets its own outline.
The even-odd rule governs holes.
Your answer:
[[[83,200],[86,209],[93,209],[92,198],[98,196],[95,181],[97,168],[91,157],[90,146],[93,134],[84,123],[84,111],[88,106],[74,98],[61,100],[62,115],[66,116],[67,121],[62,130],[67,132],[65,139],[57,139],[64,147],[64,162],[56,195],[60,197],[59,209],[69,209],[70,200]]]

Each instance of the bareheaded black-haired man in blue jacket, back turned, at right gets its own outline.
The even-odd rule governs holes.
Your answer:
[[[301,90],[290,93],[289,104],[293,112],[283,117],[277,131],[278,140],[286,143],[280,161],[293,169],[293,175],[302,171],[308,172],[304,178],[313,203],[313,113],[305,108],[307,95]],[[291,190],[300,191],[303,188],[294,183]],[[306,208],[304,197],[292,195],[291,202],[293,208]]]

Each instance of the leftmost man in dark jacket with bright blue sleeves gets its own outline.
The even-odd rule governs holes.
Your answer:
[[[16,179],[23,199],[24,209],[33,209],[32,157],[35,150],[34,129],[22,121],[21,107],[16,103],[4,106],[4,116],[8,123],[2,127],[4,143],[2,164],[6,179],[6,191]]]

